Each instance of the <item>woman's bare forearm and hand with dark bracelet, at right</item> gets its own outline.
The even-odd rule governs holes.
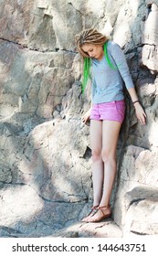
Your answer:
[[[146,113],[142,109],[142,105],[140,104],[140,101],[138,100],[138,96],[137,96],[137,93],[135,91],[135,88],[129,88],[128,91],[129,91],[130,96],[132,98],[132,103],[133,103],[133,106],[135,108],[135,113],[136,113],[136,116],[137,116],[138,120],[142,124],[145,124],[146,123]]]

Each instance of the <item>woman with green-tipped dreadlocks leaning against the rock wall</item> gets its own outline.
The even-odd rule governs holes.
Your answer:
[[[92,28],[77,35],[76,42],[84,58],[83,91],[89,78],[92,89],[91,107],[82,121],[87,123],[90,119],[93,207],[82,220],[97,222],[111,216],[116,148],[125,112],[123,84],[130,93],[136,116],[142,124],[146,114],[138,100],[121,48]]]

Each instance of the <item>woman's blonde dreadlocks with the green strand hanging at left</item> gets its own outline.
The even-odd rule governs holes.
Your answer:
[[[85,44],[103,46],[108,41],[108,38],[103,36],[96,29],[89,28],[89,29],[83,30],[78,35],[76,35],[75,39],[76,39],[79,53],[84,58],[84,67],[83,67],[84,71],[83,71],[83,82],[82,82],[82,93],[84,93],[87,81],[90,78],[91,59],[89,54],[82,49],[82,46]]]

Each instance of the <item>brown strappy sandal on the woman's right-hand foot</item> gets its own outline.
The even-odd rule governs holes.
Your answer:
[[[95,216],[95,214],[99,211],[100,211],[100,217],[93,219],[93,216]],[[111,217],[111,207],[110,206],[98,207],[96,212],[93,215],[91,215],[92,219],[87,219],[87,222],[100,222],[102,219],[108,219],[110,217]]]

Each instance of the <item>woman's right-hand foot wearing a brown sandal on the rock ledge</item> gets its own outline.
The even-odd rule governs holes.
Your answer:
[[[97,210],[86,218],[86,222],[100,222],[111,217],[111,207],[98,207]]]

